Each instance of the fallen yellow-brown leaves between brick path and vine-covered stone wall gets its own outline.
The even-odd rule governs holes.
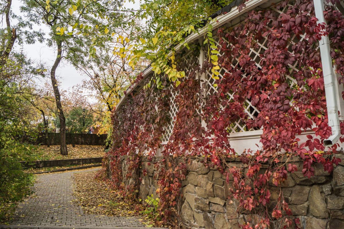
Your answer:
[[[143,210],[140,202],[128,202],[105,181],[94,179],[95,174],[96,171],[74,173],[74,196],[81,203],[84,214],[137,216],[143,224],[153,226],[149,217],[140,214]]]

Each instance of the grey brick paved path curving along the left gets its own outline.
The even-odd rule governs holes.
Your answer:
[[[87,171],[92,171],[90,169]],[[40,175],[33,197],[20,203],[10,225],[142,227],[136,217],[84,215],[73,202],[73,172]]]

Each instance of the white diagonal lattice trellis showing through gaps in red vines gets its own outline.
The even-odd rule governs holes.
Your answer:
[[[288,7],[291,6],[290,4],[288,4],[286,7],[284,7],[281,10],[278,10],[276,8],[272,8],[273,11],[276,12],[276,15],[279,16],[282,13],[286,13],[286,11],[288,10]],[[228,22],[227,24],[224,25],[224,27],[230,28],[230,27],[235,27],[236,25],[238,25],[240,23],[240,20],[235,20],[237,24],[232,24],[232,22]],[[228,31],[224,31],[224,32],[228,32]],[[215,44],[216,46],[219,46],[219,38],[217,36],[214,35],[213,39],[215,40]],[[287,49],[289,50],[289,52],[292,52],[291,47],[292,45],[298,43],[299,41],[302,41],[303,39],[305,39],[304,35],[301,35],[299,38],[297,38],[296,35],[293,35],[293,37],[291,38],[291,40],[288,42],[287,45]],[[256,66],[261,69],[261,54],[264,54],[264,52],[268,49],[267,48],[267,38],[264,37],[264,39],[262,39],[261,41],[257,42],[258,46],[250,48],[250,52],[249,52],[249,56],[250,58],[256,62]],[[228,44],[228,45],[232,45],[232,44]],[[210,50],[211,51],[211,50]],[[201,56],[198,56],[197,58],[194,58],[193,56],[193,51],[189,51],[188,53],[185,53],[183,55],[180,54],[179,59],[180,59],[180,63],[183,63],[183,66],[185,66],[185,73],[189,72],[192,66],[194,66],[195,64],[197,65],[198,63],[203,63],[204,59],[207,59],[207,53],[208,52],[201,52]],[[217,54],[218,56],[221,55]],[[177,58],[176,58],[177,59]],[[238,70],[240,70],[240,66],[238,66],[238,59],[234,59],[233,62],[231,63],[232,67],[237,67]],[[290,65],[289,64],[289,74],[286,76],[287,77],[287,83],[289,84],[289,86],[291,88],[293,88],[297,82],[296,80],[293,78],[293,73],[294,72],[298,72],[298,68],[299,66],[297,66],[297,63],[295,63],[294,65]],[[217,75],[220,80],[224,77],[224,74],[227,72],[227,69],[225,69],[224,67],[221,67],[218,70],[219,74]],[[201,75],[198,75],[201,76]],[[187,74],[186,74],[186,77]],[[247,77],[245,74],[243,74],[243,77]],[[249,76],[252,77],[252,76]],[[206,71],[205,76],[203,77],[204,82],[201,81],[201,84],[205,84],[205,92],[202,96],[198,95],[198,97],[200,98],[200,109],[197,110],[198,114],[200,114],[201,109],[202,109],[202,104],[201,104],[201,98],[203,97],[203,99],[206,99],[209,95],[212,95],[216,92],[216,87],[214,87],[215,84],[215,80],[212,77],[212,73],[209,71]],[[204,85],[203,85],[204,86]],[[168,110],[168,117],[169,117],[169,121],[168,123],[163,127],[164,129],[164,134],[161,137],[162,142],[167,142],[170,138],[170,136],[173,133],[173,128],[174,128],[174,124],[175,124],[175,118],[176,115],[178,113],[179,107],[178,104],[176,104],[176,97],[179,95],[179,92],[175,90],[173,85],[169,86],[169,89],[171,90],[171,95],[169,96],[169,104],[170,104],[170,108]],[[230,101],[233,101],[233,93],[227,92],[227,98]],[[290,101],[290,103],[292,103],[292,101]],[[221,106],[222,109],[224,109],[224,107]],[[251,104],[249,99],[245,100],[244,103],[244,111],[247,114],[248,118],[254,119],[258,113],[260,112],[254,105]],[[228,133],[237,133],[237,132],[248,132],[248,131],[254,131],[257,129],[253,129],[253,128],[248,128],[245,124],[245,120],[242,120],[241,118],[239,118],[238,120],[234,121],[228,128]]]

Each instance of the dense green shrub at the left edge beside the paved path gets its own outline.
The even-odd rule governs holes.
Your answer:
[[[14,83],[0,81],[0,221],[9,216],[16,201],[30,193],[33,184],[32,175],[25,174],[20,164],[32,160],[32,145],[21,142],[27,129],[16,89]]]

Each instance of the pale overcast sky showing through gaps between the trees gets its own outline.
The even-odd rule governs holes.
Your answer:
[[[20,14],[19,7],[21,5],[20,0],[13,0],[11,9],[15,14]],[[140,6],[139,0],[136,3],[126,2],[126,8],[138,9]],[[49,31],[49,28],[42,24],[35,26],[34,29],[42,29],[43,31]],[[46,63],[48,66],[52,66],[56,58],[56,49],[47,47],[44,43],[36,42],[35,44],[24,44],[22,47],[17,45],[15,49],[19,50],[23,48],[28,58],[35,60],[36,62]],[[60,65],[56,69],[57,80],[61,82],[60,89],[67,90],[76,84],[81,84],[83,79],[87,79],[88,76],[82,75],[72,65],[68,64],[62,59]]]

